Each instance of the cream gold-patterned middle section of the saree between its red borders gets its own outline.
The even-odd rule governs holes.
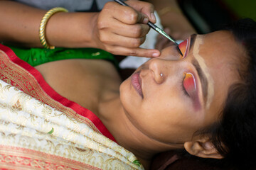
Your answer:
[[[22,148],[31,159],[27,149],[102,169],[141,169],[133,164],[134,154],[116,142],[1,80],[0,145]]]

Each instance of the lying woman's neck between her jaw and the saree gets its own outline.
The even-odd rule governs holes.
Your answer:
[[[119,94],[100,103],[100,120],[117,140],[117,143],[139,159],[144,169],[149,169],[151,159],[155,154],[183,147],[165,144],[144,135],[127,118]]]

